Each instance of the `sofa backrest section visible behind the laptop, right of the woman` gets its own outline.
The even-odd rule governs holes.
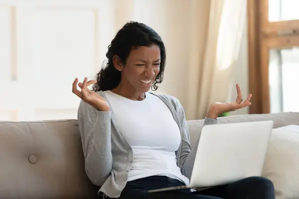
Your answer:
[[[249,122],[249,121],[274,121],[273,128],[287,126],[290,124],[299,125],[299,112],[283,112],[273,114],[248,114],[248,115],[233,115],[227,117],[219,117],[219,123],[236,123],[236,122]],[[187,121],[191,146],[194,146],[198,139],[201,128],[203,125],[202,120],[189,120]]]

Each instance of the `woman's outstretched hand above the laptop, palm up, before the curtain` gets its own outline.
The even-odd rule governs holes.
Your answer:
[[[248,95],[247,99],[242,103],[242,92],[239,84],[236,85],[237,88],[237,98],[234,102],[214,102],[211,104],[209,111],[208,111],[208,118],[216,119],[221,113],[234,111],[240,108],[244,108],[248,105],[251,105],[250,99],[252,95]]]

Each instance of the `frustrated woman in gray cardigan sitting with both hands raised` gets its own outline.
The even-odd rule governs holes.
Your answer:
[[[210,188],[147,193],[189,183],[196,147],[191,149],[184,110],[177,99],[149,93],[163,80],[165,47],[149,26],[127,23],[106,54],[107,66],[97,81],[73,83],[82,99],[78,123],[85,170],[99,194],[120,199],[274,199],[271,181],[253,177]],[[77,90],[77,84],[81,91]],[[87,87],[94,84],[93,91]],[[223,112],[242,103],[240,87],[233,103],[213,103],[204,125],[216,124]]]

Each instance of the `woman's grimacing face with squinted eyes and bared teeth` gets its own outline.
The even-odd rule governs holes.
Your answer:
[[[152,44],[131,50],[126,65],[122,67],[122,86],[132,92],[148,92],[160,70],[160,48]]]

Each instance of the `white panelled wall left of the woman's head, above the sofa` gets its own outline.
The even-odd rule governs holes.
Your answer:
[[[111,2],[0,1],[0,120],[77,118],[71,85],[101,68],[113,38]]]

